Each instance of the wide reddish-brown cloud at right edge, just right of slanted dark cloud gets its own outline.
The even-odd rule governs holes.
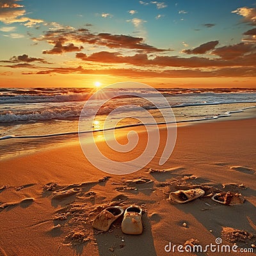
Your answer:
[[[255,53],[256,45],[244,42],[235,45],[226,45],[212,51],[212,54],[220,56],[223,60],[235,60],[240,57],[244,58],[244,62],[246,62],[246,57],[248,58]]]

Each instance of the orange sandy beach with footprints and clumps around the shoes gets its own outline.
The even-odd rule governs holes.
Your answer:
[[[246,111],[237,115],[246,116]],[[234,243],[237,250],[252,248],[256,244],[256,118],[178,126],[175,148],[164,166],[157,163],[166,129],[159,131],[156,156],[130,175],[97,170],[84,157],[78,140],[1,161],[0,255],[241,255],[164,250],[170,243],[188,241],[204,247],[216,244],[218,237],[230,248]],[[139,137],[138,154],[147,134],[141,131]],[[125,143],[127,138],[119,140]],[[170,192],[191,188],[202,188],[205,195],[188,204],[168,200]],[[211,195],[220,191],[241,193],[244,204],[212,201]],[[93,229],[93,219],[104,208],[132,204],[143,209],[141,235],[123,234],[122,218],[108,232]],[[244,254],[255,255],[253,250]]]

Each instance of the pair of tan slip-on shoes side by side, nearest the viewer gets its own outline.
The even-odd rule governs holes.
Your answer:
[[[108,231],[111,224],[124,214],[122,221],[122,232],[129,235],[140,235],[143,231],[141,221],[142,209],[132,205],[125,209],[120,206],[113,206],[104,209],[93,220],[93,228],[101,231]]]

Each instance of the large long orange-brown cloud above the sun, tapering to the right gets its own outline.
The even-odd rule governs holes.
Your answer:
[[[112,35],[110,33],[91,33],[89,29],[59,29],[56,31],[45,31],[43,36],[33,38],[34,41],[45,41],[48,44],[56,44],[60,41],[62,44],[68,42],[78,42],[90,44],[94,47],[105,46],[109,49],[133,49],[143,52],[164,52],[170,51],[159,49],[152,45],[145,44],[142,37],[127,36],[127,35]]]

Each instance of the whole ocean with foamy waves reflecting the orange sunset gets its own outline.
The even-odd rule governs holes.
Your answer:
[[[230,116],[256,106],[253,88],[103,88],[98,93],[99,100],[89,99],[96,90],[0,88],[1,159],[35,151],[38,143],[48,147],[77,139],[81,113],[84,122],[92,116],[94,120],[84,131],[100,131],[147,125],[152,117],[155,122],[164,123],[164,116],[171,112],[175,122],[182,123]],[[163,97],[170,106],[161,105]],[[107,117],[109,122],[104,124]]]

